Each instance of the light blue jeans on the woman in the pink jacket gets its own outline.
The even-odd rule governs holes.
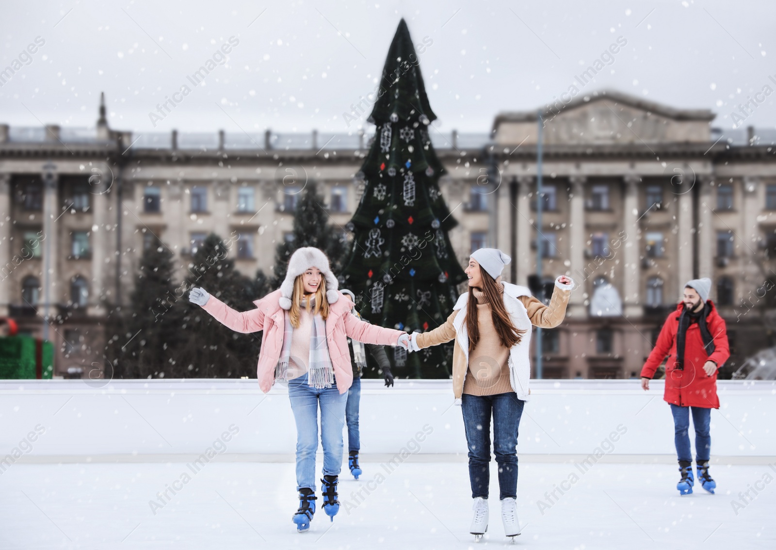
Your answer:
[[[315,490],[315,453],[318,451],[318,406],[320,443],[324,448],[324,476],[338,476],[342,467],[342,426],[348,394],[340,395],[337,382],[331,388],[307,385],[307,374],[289,380],[289,400],[296,420],[296,490]]]

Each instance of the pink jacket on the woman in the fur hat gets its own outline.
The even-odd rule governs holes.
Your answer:
[[[275,383],[275,365],[278,364],[283,347],[286,311],[280,307],[279,299],[280,290],[275,290],[264,298],[255,300],[255,310],[243,313],[233,310],[215,296],[210,296],[207,303],[202,306],[203,310],[220,323],[237,332],[264,330],[262,351],[258,354],[258,365],[256,365],[258,386],[264,393],[267,393]],[[353,382],[348,337],[365,344],[395,346],[400,334],[406,334],[401,330],[366,323],[351,313],[352,307],[353,303],[348,296],[339,292],[339,299],[329,304],[329,317],[326,320],[326,341],[339,393],[347,392]]]

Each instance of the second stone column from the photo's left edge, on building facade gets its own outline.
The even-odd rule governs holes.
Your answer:
[[[56,166],[50,162],[43,166],[43,304],[40,314],[43,322],[43,338],[52,340],[54,334],[49,330],[50,319],[57,316],[57,304],[60,303],[62,285],[59,280],[58,252],[60,239],[57,222],[61,214],[59,208],[59,175]],[[64,244],[67,244],[66,242]],[[26,304],[25,304],[26,305]],[[33,304],[34,306],[35,304]]]

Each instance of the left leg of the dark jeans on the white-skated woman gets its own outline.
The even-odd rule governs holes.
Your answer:
[[[487,499],[490,486],[490,396],[461,396],[463,426],[469,447],[469,482],[472,498]]]

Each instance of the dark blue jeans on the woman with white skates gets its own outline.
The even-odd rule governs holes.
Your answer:
[[[518,428],[525,401],[514,392],[461,398],[466,444],[469,446],[469,481],[472,498],[487,499],[490,486],[490,416],[493,415],[493,450],[498,464],[499,498],[518,496]]]

